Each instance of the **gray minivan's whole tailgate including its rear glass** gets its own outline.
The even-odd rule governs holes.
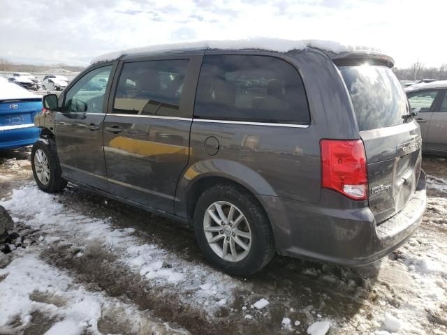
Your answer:
[[[420,175],[421,137],[404,90],[387,66],[339,66],[365,145],[369,209],[376,223],[400,211]]]

